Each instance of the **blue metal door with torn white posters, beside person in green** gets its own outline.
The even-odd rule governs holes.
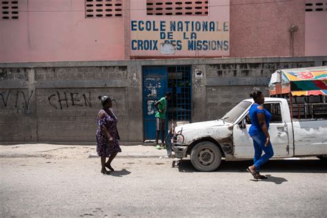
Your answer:
[[[167,67],[164,66],[144,67],[143,68],[144,140],[155,139],[155,134],[156,134],[155,113],[157,112],[155,108],[155,102],[161,99],[161,97],[165,97],[166,92],[167,92]]]

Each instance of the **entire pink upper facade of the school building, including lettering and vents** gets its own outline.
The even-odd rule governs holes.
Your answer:
[[[0,61],[327,55],[327,1],[0,2]]]

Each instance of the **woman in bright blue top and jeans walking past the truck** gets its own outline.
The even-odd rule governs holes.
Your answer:
[[[269,122],[271,114],[268,110],[264,109],[264,94],[257,91],[250,94],[255,103],[252,104],[249,110],[249,116],[251,121],[248,134],[253,139],[253,145],[255,147],[255,157],[252,166],[249,166],[246,170],[252,174],[255,179],[267,179],[267,177],[260,175],[260,166],[266,163],[274,155],[273,146],[270,143],[270,135],[268,132]],[[262,155],[264,150],[265,154]],[[262,156],[261,156],[262,155]]]

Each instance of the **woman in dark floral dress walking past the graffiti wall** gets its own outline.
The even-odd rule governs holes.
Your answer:
[[[109,174],[108,168],[111,171],[114,169],[111,167],[112,160],[116,157],[118,152],[121,152],[118,140],[117,130],[117,117],[112,112],[112,101],[110,97],[106,95],[99,96],[103,108],[99,111],[97,116],[97,153],[101,157],[101,172],[103,174]],[[106,157],[108,161],[106,162]]]

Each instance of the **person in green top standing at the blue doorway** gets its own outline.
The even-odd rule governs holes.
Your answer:
[[[171,92],[166,92],[166,96],[162,97],[155,103],[155,108],[157,112],[155,114],[156,118],[156,135],[155,135],[155,142],[157,149],[166,149],[164,144],[165,139],[165,127],[166,127],[166,110],[167,110],[167,100],[172,97]],[[159,132],[161,132],[161,145],[159,145]]]

